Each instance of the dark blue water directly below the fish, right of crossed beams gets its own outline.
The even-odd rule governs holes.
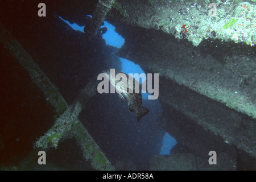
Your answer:
[[[144,106],[150,106],[144,101]],[[136,169],[147,170],[150,158],[159,155],[164,135],[155,123],[160,108],[148,109],[150,113],[138,123],[127,102],[121,104],[118,94],[97,94],[81,112],[80,119],[110,162],[131,160]]]

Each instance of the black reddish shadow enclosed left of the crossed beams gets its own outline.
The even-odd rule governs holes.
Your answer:
[[[54,123],[53,108],[27,71],[0,44],[0,164],[16,166]]]

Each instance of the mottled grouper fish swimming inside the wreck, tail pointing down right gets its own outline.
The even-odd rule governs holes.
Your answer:
[[[123,100],[126,99],[128,102],[129,111],[135,111],[137,121],[139,122],[139,120],[150,111],[146,107],[142,106],[142,96],[141,89],[139,88],[139,82],[133,77],[127,75],[126,73],[122,73],[115,69],[113,70],[114,71],[110,72],[110,69],[108,69],[104,73],[109,78],[110,84],[113,85],[115,87],[115,90],[118,92],[121,104],[123,103]],[[118,77],[118,73],[122,73],[122,75],[125,75],[127,82],[122,82],[122,78],[120,80],[116,79]],[[133,80],[133,85],[130,84],[130,88],[129,80]],[[139,89],[139,93],[135,92],[135,88]]]

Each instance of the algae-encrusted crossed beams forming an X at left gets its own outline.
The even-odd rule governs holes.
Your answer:
[[[61,96],[61,94],[56,94],[58,92],[55,85],[49,81],[44,72],[35,64],[34,60],[30,54],[20,45],[20,43],[6,30],[5,26],[0,22],[0,42],[5,46],[5,49],[10,53],[11,56],[16,59],[20,65],[22,65],[26,71],[28,71],[32,82],[34,82],[40,90],[43,91],[44,96],[48,98],[53,94],[57,101],[61,101],[62,104],[57,107],[59,102],[55,103],[55,100],[48,98],[49,102],[53,102],[55,110],[64,111],[59,118],[56,119],[55,124],[47,131],[44,136],[40,137],[33,145],[33,148],[41,148],[44,151],[47,151],[50,147],[57,148],[59,141],[66,138],[72,138],[74,136],[82,135],[85,140],[77,139],[77,143],[80,146],[87,145],[88,141],[91,144],[90,151],[83,152],[83,155],[86,160],[91,160],[92,167],[96,170],[114,170],[115,168],[111,165],[108,158],[101,151],[100,147],[89,135],[88,131],[85,129],[84,125],[77,118],[81,109],[82,104],[85,104],[88,97],[94,96],[96,94],[96,82],[89,82],[84,89],[80,90],[80,94],[74,103],[65,109],[67,102]],[[44,80],[44,81],[42,81]],[[47,80],[47,81],[46,81]],[[95,86],[93,86],[95,85]],[[55,88],[55,89],[53,89]],[[77,129],[79,127],[79,130]],[[70,134],[71,133],[71,134]],[[1,144],[1,141],[0,141]],[[2,148],[2,145],[0,146]]]

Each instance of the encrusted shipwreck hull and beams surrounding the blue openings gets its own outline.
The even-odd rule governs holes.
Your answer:
[[[24,149],[22,158],[27,157],[15,165],[18,169],[28,169],[37,151],[59,151],[59,144],[71,139],[88,161],[85,169],[115,169],[79,114],[97,97],[97,75],[118,67],[116,56],[160,76],[164,112],[158,124],[178,144],[169,157],[172,164],[154,156],[150,169],[256,169],[255,1],[44,1],[45,17],[38,16],[38,3],[0,2],[1,56],[8,70],[3,85],[8,88],[22,80],[31,94],[20,103],[34,100],[39,106],[23,118],[26,130],[40,130],[27,140],[31,148]],[[87,24],[86,15],[92,15]],[[84,32],[72,30],[59,16],[85,26]],[[96,35],[104,20],[125,38],[121,48],[106,46]],[[27,92],[17,85],[10,89],[14,95]],[[5,109],[15,115],[20,107],[11,104]],[[37,118],[40,107],[49,111]],[[34,119],[27,119],[30,115]],[[5,122],[17,119],[11,114],[2,117]],[[89,115],[86,122],[92,118]],[[17,123],[11,125],[19,127]],[[8,150],[4,138],[2,134],[2,151]],[[207,166],[212,150],[225,165]],[[180,161],[188,164],[177,168]]]

